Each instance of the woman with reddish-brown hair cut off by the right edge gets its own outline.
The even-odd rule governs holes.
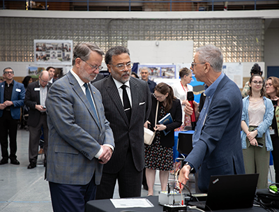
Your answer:
[[[266,94],[271,99],[274,106],[274,116],[269,130],[272,140],[272,156],[275,169],[275,181],[279,183],[279,79],[278,77],[269,77],[266,80]]]

